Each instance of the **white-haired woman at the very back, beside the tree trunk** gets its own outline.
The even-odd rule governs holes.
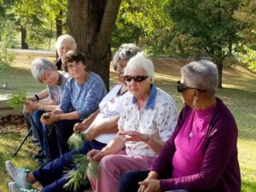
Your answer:
[[[64,62],[64,56],[69,50],[76,50],[77,44],[74,38],[68,34],[64,34],[57,38],[55,42],[55,49],[59,55],[55,65],[58,67],[58,70],[62,70],[62,63]]]

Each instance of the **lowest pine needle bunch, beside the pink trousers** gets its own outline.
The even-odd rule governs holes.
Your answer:
[[[75,169],[67,172],[68,182],[64,185],[64,188],[77,191],[77,189],[80,189],[81,183],[83,183],[83,185],[88,183],[88,180],[86,178],[88,170],[92,173],[94,177],[96,177],[98,162],[90,161],[84,154],[77,154],[73,158],[73,163],[74,165],[78,166],[76,166]],[[91,165],[91,163],[93,165]]]

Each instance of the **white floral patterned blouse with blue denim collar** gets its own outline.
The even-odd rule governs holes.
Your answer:
[[[124,108],[119,118],[119,130],[138,131],[154,135],[166,142],[177,124],[177,108],[172,96],[152,86],[148,102],[139,109],[137,99],[131,93],[125,98]],[[126,154],[156,156],[144,142],[126,142]]]

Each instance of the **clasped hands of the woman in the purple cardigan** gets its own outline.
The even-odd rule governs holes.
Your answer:
[[[160,180],[146,178],[143,182],[139,182],[138,192],[160,192]]]

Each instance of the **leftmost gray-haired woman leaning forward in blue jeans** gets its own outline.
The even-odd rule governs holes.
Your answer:
[[[34,158],[39,164],[43,164],[48,160],[55,159],[58,156],[58,150],[55,148],[55,134],[49,134],[49,130],[42,125],[40,119],[45,111],[53,111],[58,107],[61,101],[61,92],[64,90],[69,74],[57,71],[57,67],[44,58],[37,58],[32,61],[31,71],[35,79],[47,85],[47,92],[49,93],[49,100],[40,100],[40,95],[36,95],[37,102],[28,100],[24,105],[26,111],[32,113],[32,122],[34,122],[38,132],[38,141],[42,151],[40,154],[34,155]]]

